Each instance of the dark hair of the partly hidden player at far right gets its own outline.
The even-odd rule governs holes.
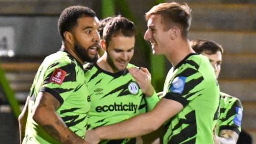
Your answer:
[[[215,54],[218,51],[223,54],[222,46],[214,41],[206,40],[206,39],[195,39],[190,41],[190,45],[192,49],[196,53],[202,53],[205,52],[206,54]]]

